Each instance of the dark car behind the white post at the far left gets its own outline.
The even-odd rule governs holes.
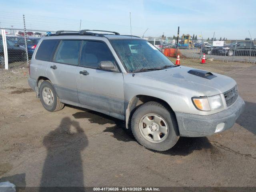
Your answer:
[[[0,42],[2,39],[0,39]],[[7,52],[8,52],[8,63],[26,61],[26,49],[22,46],[18,46],[10,39],[6,39]],[[0,43],[0,66],[4,65],[4,48],[3,44]]]

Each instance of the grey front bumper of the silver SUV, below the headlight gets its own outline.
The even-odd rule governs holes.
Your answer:
[[[211,114],[196,115],[182,112],[175,112],[180,136],[184,137],[202,137],[210,136],[215,133],[216,126],[224,123],[224,128],[220,131],[231,128],[236,119],[244,110],[245,103],[240,96],[236,102],[227,110]]]

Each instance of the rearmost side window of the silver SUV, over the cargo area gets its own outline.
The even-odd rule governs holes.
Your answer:
[[[58,39],[43,40],[36,52],[36,59],[50,61],[55,47],[58,45]]]

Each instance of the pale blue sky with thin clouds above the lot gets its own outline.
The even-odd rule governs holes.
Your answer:
[[[28,29],[102,29],[158,37],[189,33],[204,38],[256,37],[255,0],[8,0],[1,4],[0,26]]]

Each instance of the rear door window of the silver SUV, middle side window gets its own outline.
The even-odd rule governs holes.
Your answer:
[[[78,65],[80,46],[80,40],[61,41],[55,54],[54,61],[70,65]]]

